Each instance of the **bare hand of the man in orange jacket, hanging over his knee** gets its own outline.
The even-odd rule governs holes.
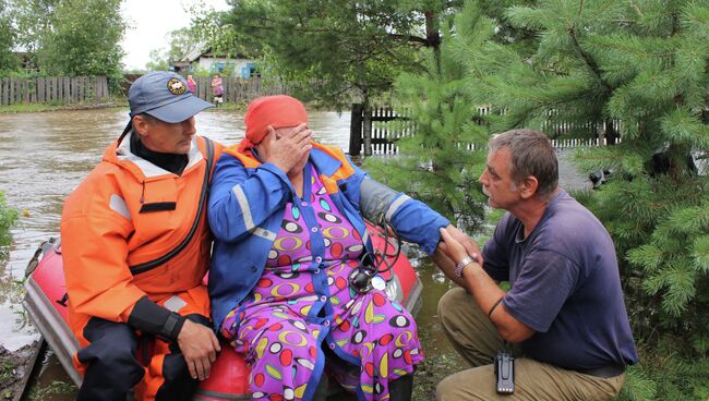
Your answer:
[[[192,378],[204,380],[209,377],[212,363],[217,359],[217,352],[221,351],[214,331],[187,319],[178,335],[178,344]]]

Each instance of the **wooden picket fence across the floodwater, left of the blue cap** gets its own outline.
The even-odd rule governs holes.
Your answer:
[[[0,105],[101,102],[110,96],[105,76],[0,78]]]

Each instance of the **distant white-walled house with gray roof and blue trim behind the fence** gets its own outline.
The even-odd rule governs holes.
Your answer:
[[[170,70],[177,73],[189,74],[194,69],[206,70],[209,73],[224,73],[231,71],[231,76],[248,78],[254,75],[256,66],[253,60],[237,57],[227,58],[225,54],[212,52],[212,48],[196,47],[188,52],[181,60],[170,60]]]

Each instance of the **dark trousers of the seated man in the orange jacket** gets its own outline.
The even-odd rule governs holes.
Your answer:
[[[209,326],[209,320],[204,316],[190,315],[188,318]],[[177,343],[140,337],[125,324],[96,317],[84,328],[84,337],[91,343],[77,353],[79,361],[87,368],[76,400],[125,401],[136,386],[143,389],[139,396],[141,398],[192,399],[199,381],[190,377]],[[146,345],[153,340],[153,350],[147,350]],[[139,343],[143,348],[141,355],[137,354]],[[139,361],[141,356],[146,356],[146,364],[158,364],[152,369],[157,367],[157,375],[146,375],[146,368]]]

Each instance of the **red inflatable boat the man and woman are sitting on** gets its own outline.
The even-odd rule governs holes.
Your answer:
[[[393,268],[383,274],[387,279],[387,296],[416,315],[421,306],[422,285],[419,277],[406,256],[399,254],[397,241],[385,239],[382,230],[372,226],[368,228],[374,248],[386,254],[388,264],[393,264]],[[68,296],[59,240],[51,239],[39,246],[27,265],[26,277],[27,293],[23,304],[69,376],[79,386],[82,378],[72,363],[72,355],[76,352],[79,342],[67,324]],[[223,344],[221,353],[212,366],[209,378],[200,384],[194,399],[250,400],[248,377],[249,367],[243,356],[236,353],[231,347]]]

